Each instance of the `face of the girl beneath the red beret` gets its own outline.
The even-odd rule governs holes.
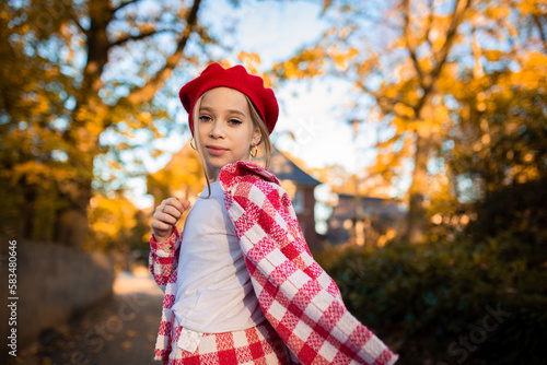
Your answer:
[[[205,93],[196,123],[198,149],[211,181],[224,165],[246,160],[251,145],[260,141],[247,99],[234,89],[216,87]]]

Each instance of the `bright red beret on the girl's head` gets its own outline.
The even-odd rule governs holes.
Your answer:
[[[198,98],[208,90],[225,86],[235,89],[247,95],[263,117],[268,131],[271,133],[276,127],[279,107],[276,95],[271,89],[264,87],[264,80],[248,74],[243,66],[224,69],[219,63],[209,64],[196,79],[184,85],[178,92],[183,106],[188,111],[188,122],[194,136],[194,106]]]

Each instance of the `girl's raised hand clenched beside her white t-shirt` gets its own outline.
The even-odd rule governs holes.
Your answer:
[[[178,222],[185,210],[190,207],[190,202],[181,202],[176,198],[167,198],[158,208],[152,216],[152,232],[156,242],[163,242],[173,234],[173,226]]]

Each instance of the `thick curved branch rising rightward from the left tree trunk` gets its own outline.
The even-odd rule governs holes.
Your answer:
[[[150,80],[144,86],[131,90],[129,95],[126,96],[125,98],[119,99],[116,105],[119,105],[120,103],[130,103],[133,105],[140,103],[147,103],[154,97],[155,92],[160,90],[160,87],[171,76],[173,69],[178,64],[178,62],[184,56],[184,49],[186,47],[186,44],[194,31],[194,27],[197,24],[198,10],[200,3],[201,0],[194,1],[191,10],[189,11],[188,16],[186,19],[186,27],[183,32],[183,37],[178,42],[175,52],[170,57],[167,57],[165,61],[165,67],[162,70],[160,70],[155,74],[155,76],[152,80]]]

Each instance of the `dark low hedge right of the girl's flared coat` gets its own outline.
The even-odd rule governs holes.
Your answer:
[[[356,317],[405,333],[401,364],[539,364],[547,358],[546,257],[507,234],[480,244],[331,249],[317,260]]]

